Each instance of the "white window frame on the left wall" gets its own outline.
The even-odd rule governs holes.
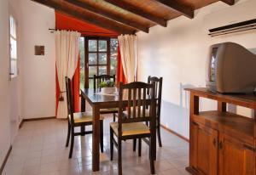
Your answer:
[[[16,34],[16,37],[13,36],[11,34],[11,18],[14,20],[15,22],[15,34]],[[15,15],[12,14],[12,13],[9,13],[9,80],[11,81],[13,78],[19,76],[19,69],[18,69],[18,58],[19,58],[19,55],[18,55],[18,22],[17,22],[17,19],[15,18]],[[11,49],[12,49],[12,45],[11,45],[11,39],[13,39],[15,42],[16,42],[16,58],[12,58],[12,55],[11,55]],[[15,61],[15,67],[16,67],[16,70],[15,70],[15,73],[12,72],[12,62]]]

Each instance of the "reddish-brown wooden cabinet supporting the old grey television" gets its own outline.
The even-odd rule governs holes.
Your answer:
[[[226,111],[226,103],[256,111],[256,96],[190,91],[189,167],[195,175],[256,175],[256,120]],[[199,97],[218,100],[218,110],[199,111]],[[255,112],[256,114],[256,112]]]

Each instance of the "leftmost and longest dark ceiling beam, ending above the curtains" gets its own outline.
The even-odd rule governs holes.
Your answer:
[[[72,16],[78,20],[83,20],[85,22],[89,22],[90,24],[100,26],[102,28],[108,29],[110,31],[116,31],[119,34],[134,34],[135,30],[131,29],[131,27],[126,27],[125,25],[121,25],[113,20],[108,20],[103,18],[102,16],[86,12],[85,10],[80,10],[77,7],[71,6],[69,3],[66,3],[61,0],[32,0],[36,3],[41,3],[49,8],[55,8],[56,11],[61,14],[66,14],[68,16]]]

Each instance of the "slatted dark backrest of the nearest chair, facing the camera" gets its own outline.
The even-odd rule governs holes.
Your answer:
[[[152,91],[150,95],[147,91]],[[149,106],[149,116],[146,115]],[[123,111],[127,110],[127,116],[123,117]],[[154,84],[145,82],[131,82],[119,84],[119,132],[122,131],[122,123],[149,121],[150,128],[155,127],[156,98],[154,96]]]

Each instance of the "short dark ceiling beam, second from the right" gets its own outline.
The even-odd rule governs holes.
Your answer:
[[[182,3],[179,3],[177,0],[154,0],[155,2],[164,4],[168,8],[172,8],[178,13],[183,14],[184,16],[193,19],[194,18],[194,8],[186,6]]]

